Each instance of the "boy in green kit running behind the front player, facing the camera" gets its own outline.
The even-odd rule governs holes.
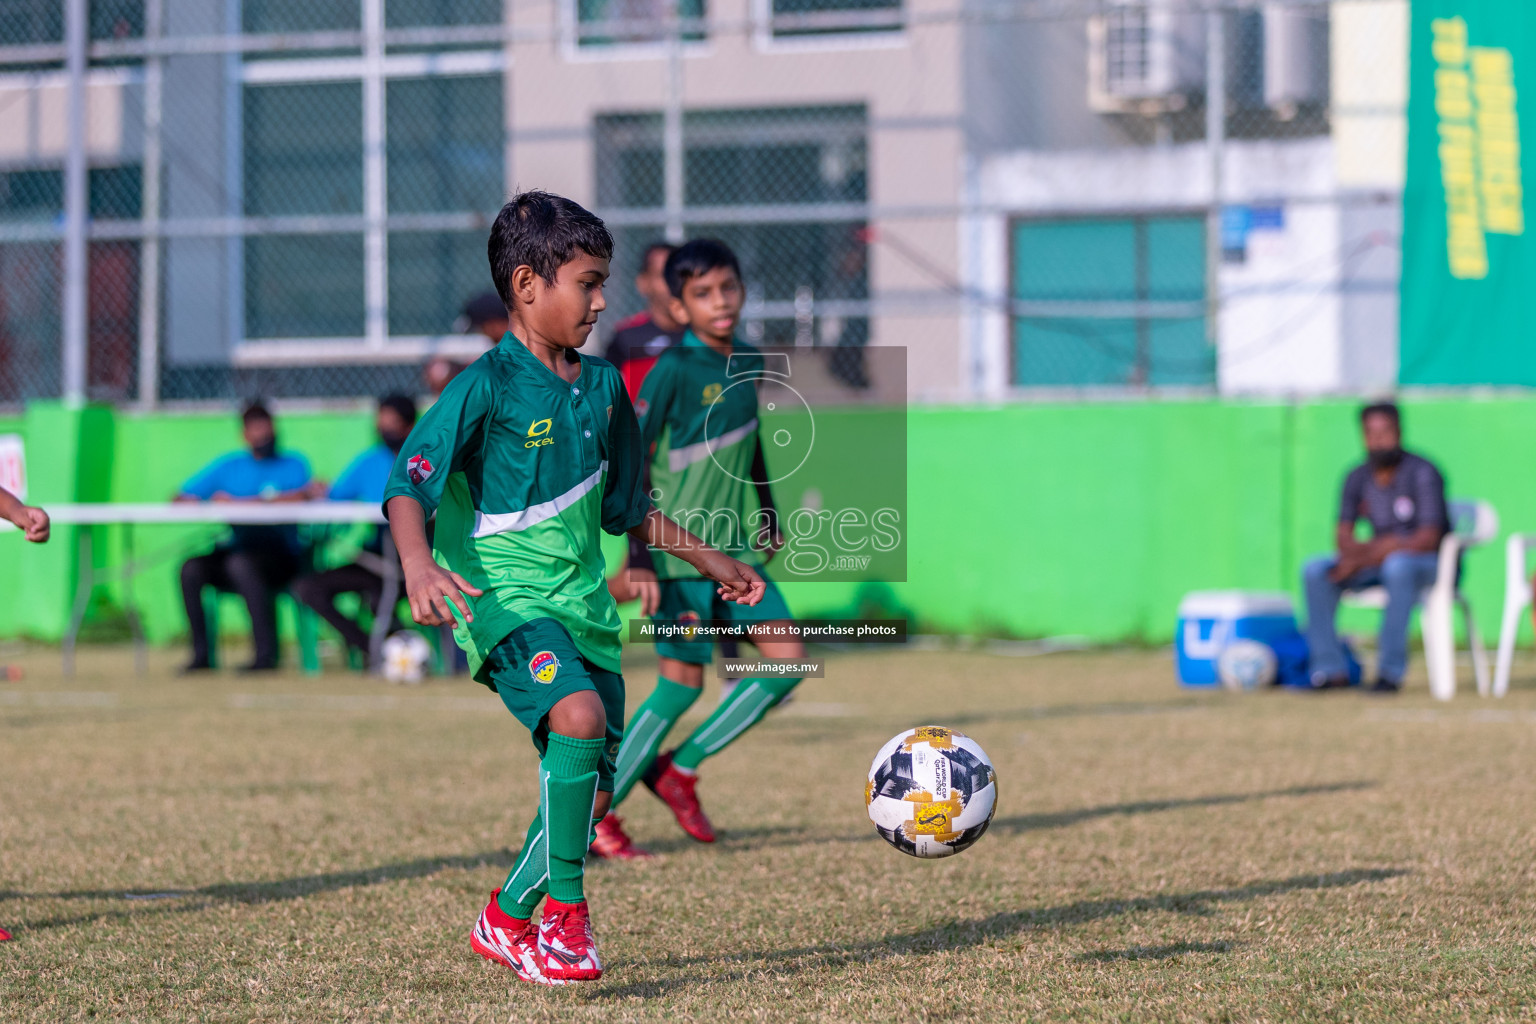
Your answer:
[[[665,275],[673,316],[688,330],[682,344],[656,359],[636,401],[647,451],[654,444],[651,494],[668,516],[685,525],[703,522],[708,542],[760,570],[782,537],[757,436],[763,356],[736,339],[745,295],[740,266],[725,243],[694,239],[667,259]],[[733,605],[719,600],[714,585],[682,559],[656,551],[654,565],[660,582],[657,622],[731,619],[743,623],[763,657],[805,657],[799,640],[771,640],[765,634],[790,619],[773,582],[762,602]],[[713,643],[702,636],[657,642],[660,679],[630,718],[613,791],[613,806],[619,806],[644,780],[700,843],[713,843],[714,829],[694,789],[699,763],[736,742],[800,682],[782,676],[743,679],[682,746],[657,755],[667,732],[699,697]],[[613,858],[645,855],[611,814],[598,824],[596,847]]]

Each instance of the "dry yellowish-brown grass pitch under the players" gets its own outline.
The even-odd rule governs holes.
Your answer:
[[[608,973],[547,990],[468,949],[536,800],[488,691],[169,657],[0,657],[28,669],[0,685],[3,1021],[1536,1015],[1528,663],[1436,705],[1181,692],[1149,652],[833,656],[705,765],[716,846],[636,792],[659,857],[588,872]],[[863,815],[874,751],[929,722],[1000,786],[946,861]]]

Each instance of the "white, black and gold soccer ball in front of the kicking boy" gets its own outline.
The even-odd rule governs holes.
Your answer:
[[[992,823],[997,772],[975,740],[937,725],[908,729],[874,755],[865,806],[876,832],[912,857],[949,857]]]

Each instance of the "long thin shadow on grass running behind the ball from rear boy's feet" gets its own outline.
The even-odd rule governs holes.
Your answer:
[[[1043,829],[1063,829],[1080,821],[1094,818],[1112,818],[1117,815],[1157,814],[1161,811],[1180,811],[1184,808],[1221,808],[1236,803],[1253,803],[1276,797],[1316,797],[1335,792],[1356,792],[1375,788],[1375,781],[1355,780],[1342,783],[1319,783],[1315,786],[1286,786],[1284,789],[1261,789],[1258,792],[1212,794],[1207,797],[1177,797],[1170,800],[1137,800],[1134,803],[1106,803],[1097,808],[1078,808],[1075,811],[1052,811],[1048,814],[1015,814],[1006,818],[994,818],[989,831],[1017,835],[1020,832],[1038,832]],[[872,843],[877,841],[874,831],[857,835],[816,835],[814,826],[780,824],[748,829],[720,829],[717,846],[728,851],[750,851],[773,846],[805,846],[813,843]],[[653,854],[676,854],[697,846],[693,840],[671,835],[660,840],[647,838],[645,846]]]

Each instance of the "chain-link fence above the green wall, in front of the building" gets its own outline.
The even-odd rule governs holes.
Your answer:
[[[1395,373],[1405,0],[0,0],[0,404],[473,358],[519,187],[915,395]]]

